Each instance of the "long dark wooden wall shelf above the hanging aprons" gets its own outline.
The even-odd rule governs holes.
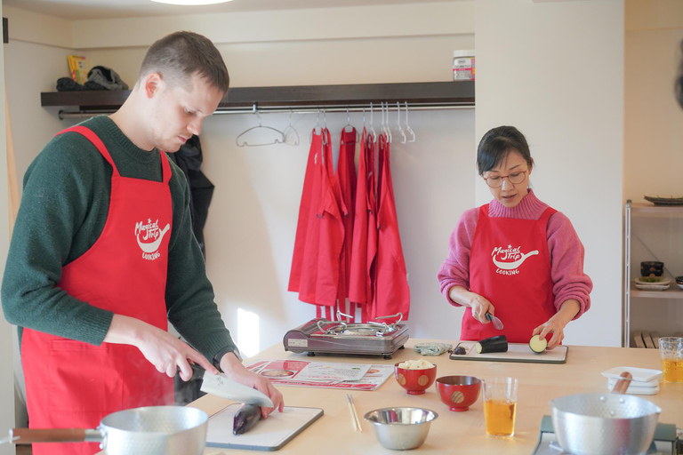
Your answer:
[[[77,107],[81,113],[113,111],[130,91],[42,92],[43,107]],[[407,102],[410,108],[468,108],[474,106],[474,81],[400,84],[293,85],[229,89],[217,112],[286,110],[291,108],[359,108]]]

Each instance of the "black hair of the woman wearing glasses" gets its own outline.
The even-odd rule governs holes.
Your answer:
[[[524,134],[514,126],[499,126],[486,132],[477,148],[477,167],[479,175],[491,171],[498,166],[510,152],[517,152],[524,158],[531,169],[534,160],[531,158],[529,145]]]

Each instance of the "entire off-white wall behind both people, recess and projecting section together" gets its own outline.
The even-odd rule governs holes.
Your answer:
[[[516,124],[526,133],[537,161],[534,187],[573,220],[588,251],[586,270],[596,283],[594,307],[572,323],[567,342],[618,345],[623,5],[615,0],[478,0],[475,16],[474,4],[311,10],[288,15],[286,28],[281,27],[280,12],[241,13],[240,22],[255,34],[248,42],[221,26],[225,22],[220,19],[229,18],[189,16],[180,24],[179,18],[153,18],[146,28],[135,28],[134,20],[76,21],[71,36],[55,39],[59,45],[53,51],[45,51],[40,47],[44,40],[30,36],[14,48],[16,59],[26,62],[23,68],[45,60],[49,77],[21,78],[20,65],[8,68],[8,80],[26,79],[33,85],[26,95],[10,98],[12,116],[37,105],[36,98],[28,99],[30,92],[37,96],[49,89],[46,84],[66,75],[59,60],[69,49],[86,55],[92,64],[116,69],[133,84],[145,48],[179,28],[194,28],[217,41],[233,86],[446,81],[451,78],[453,50],[476,44],[476,132],[472,110],[413,112],[418,141],[394,148],[398,218],[414,308],[411,336],[459,337],[462,312],[441,297],[436,273],[462,211],[490,198],[486,187],[476,183],[478,138],[492,126]],[[383,20],[374,20],[372,28],[351,24],[330,26],[326,32],[320,26],[336,17],[367,15]],[[108,29],[117,33],[102,32]],[[122,29],[127,33],[121,34]],[[593,68],[589,76],[577,75],[577,60],[580,68]],[[528,79],[526,73],[534,76]],[[53,133],[72,123],[56,122],[54,110],[37,109],[49,115],[31,116],[31,127],[45,137],[18,138],[15,133],[15,141],[27,141],[18,151],[25,154],[18,157],[20,173]],[[27,120],[17,116],[12,121],[28,136]],[[287,124],[286,115],[264,120],[279,128]],[[336,136],[346,115],[328,115],[327,122]],[[237,148],[237,134],[255,124],[250,115],[213,116],[202,135],[205,172],[217,186],[205,232],[208,272],[231,330],[237,333],[237,308],[260,317],[259,348],[281,342],[286,330],[314,315],[312,307],[285,291],[307,136],[314,123],[315,116],[294,116],[301,136],[298,148]],[[358,114],[352,114],[352,123],[360,126]]]

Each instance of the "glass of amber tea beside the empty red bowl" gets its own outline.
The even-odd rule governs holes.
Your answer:
[[[510,437],[515,434],[517,414],[517,379],[491,378],[482,380],[486,435]]]

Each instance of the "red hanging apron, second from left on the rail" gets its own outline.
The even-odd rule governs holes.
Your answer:
[[[333,175],[332,143],[330,132],[323,130],[321,160],[317,164],[319,176],[318,204],[313,205],[314,215],[309,217],[306,248],[301,267],[299,299],[303,302],[324,306],[327,318],[336,308],[339,286],[339,266],[344,240],[344,224],[340,207],[339,187]],[[316,180],[314,180],[315,182]],[[320,316],[317,307],[317,316]]]

